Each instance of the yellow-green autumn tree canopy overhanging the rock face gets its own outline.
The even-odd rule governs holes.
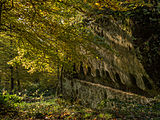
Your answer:
[[[157,0],[1,0],[0,42],[17,51],[9,64],[55,72],[96,54],[91,21],[144,6],[160,7]]]

